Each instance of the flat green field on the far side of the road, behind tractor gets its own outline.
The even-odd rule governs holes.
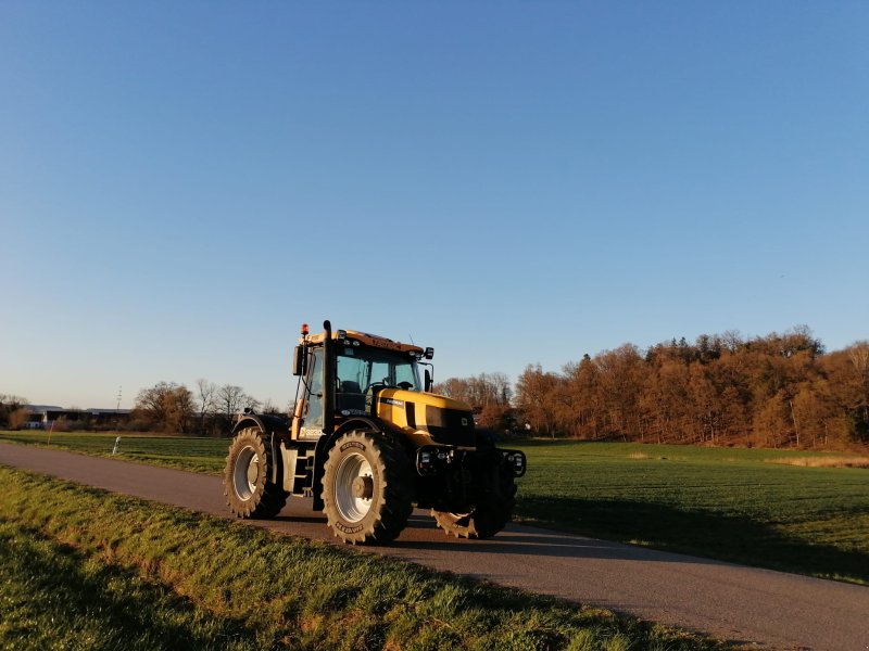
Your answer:
[[[109,456],[114,438],[55,433],[51,446]],[[8,432],[0,439],[45,445],[47,433]],[[119,457],[219,473],[227,445],[124,436]],[[529,463],[519,480],[518,521],[869,583],[869,470],[786,464],[830,455],[576,442],[511,446],[524,449]]]

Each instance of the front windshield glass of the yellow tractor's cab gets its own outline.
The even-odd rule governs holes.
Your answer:
[[[349,393],[364,393],[376,383],[421,391],[416,358],[369,346],[338,347],[338,381],[339,391]]]

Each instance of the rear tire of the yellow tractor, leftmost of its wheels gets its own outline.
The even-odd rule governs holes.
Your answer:
[[[224,495],[238,518],[274,518],[287,503],[287,492],[273,483],[275,460],[267,435],[244,427],[232,438],[224,470]]]

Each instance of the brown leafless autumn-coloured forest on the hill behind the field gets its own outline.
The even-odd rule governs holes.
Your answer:
[[[824,352],[807,327],[625,344],[561,372],[529,365],[436,387],[482,426],[546,437],[830,448],[869,443],[869,342]]]

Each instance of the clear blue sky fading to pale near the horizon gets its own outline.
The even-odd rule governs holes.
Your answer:
[[[0,2],[0,393],[869,339],[869,3]]]

